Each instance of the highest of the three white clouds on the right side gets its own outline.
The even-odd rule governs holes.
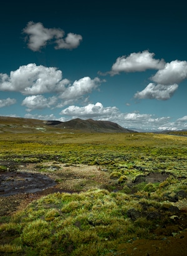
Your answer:
[[[139,53],[131,53],[129,56],[118,57],[113,64],[111,75],[119,74],[120,72],[140,72],[146,69],[161,69],[165,66],[163,59],[154,59],[154,53],[143,51]],[[101,73],[102,74],[102,73]]]

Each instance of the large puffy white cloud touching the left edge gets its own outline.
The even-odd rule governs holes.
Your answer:
[[[23,95],[38,95],[51,91],[64,91],[68,79],[62,79],[62,71],[31,63],[11,71],[10,76],[0,74],[1,91],[19,91]]]

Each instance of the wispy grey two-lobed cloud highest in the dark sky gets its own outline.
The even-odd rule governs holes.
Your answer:
[[[57,28],[45,28],[42,23],[34,23],[29,21],[23,32],[27,34],[27,46],[32,51],[40,51],[47,43],[55,43],[55,49],[74,49],[77,48],[82,41],[80,34],[69,33],[64,38],[64,31]]]

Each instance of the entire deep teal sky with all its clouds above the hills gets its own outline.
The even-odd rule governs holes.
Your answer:
[[[186,130],[186,5],[2,3],[0,116]]]

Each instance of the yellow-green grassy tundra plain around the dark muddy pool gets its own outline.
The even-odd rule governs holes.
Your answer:
[[[77,175],[97,166],[108,180],[83,180],[76,193],[50,193],[1,216],[1,255],[118,255],[124,243],[185,230],[187,207],[177,206],[187,197],[186,142],[156,133],[2,133],[1,161],[45,175],[52,163],[62,188],[62,166],[80,166]]]

